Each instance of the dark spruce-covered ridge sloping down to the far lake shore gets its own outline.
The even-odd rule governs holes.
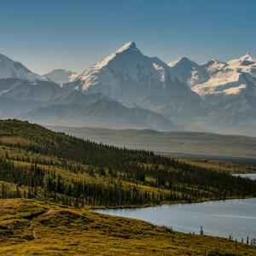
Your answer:
[[[0,121],[0,197],[139,206],[256,195],[256,182],[19,120]]]

